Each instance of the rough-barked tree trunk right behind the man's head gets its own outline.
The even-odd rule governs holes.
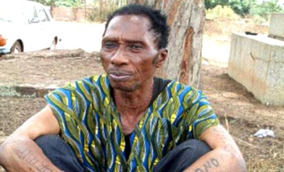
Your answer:
[[[198,88],[205,20],[203,0],[128,0],[128,3],[145,4],[168,14],[169,56],[158,75]]]

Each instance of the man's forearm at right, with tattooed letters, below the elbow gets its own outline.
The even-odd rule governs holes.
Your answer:
[[[245,162],[241,155],[234,155],[224,150],[215,149],[196,160],[185,171],[214,172],[214,171],[246,171]]]

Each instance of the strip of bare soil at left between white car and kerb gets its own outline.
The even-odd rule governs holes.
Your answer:
[[[0,85],[58,87],[102,69],[98,52],[56,50],[26,52],[0,57]]]

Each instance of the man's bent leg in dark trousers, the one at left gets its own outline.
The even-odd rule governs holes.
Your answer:
[[[69,145],[59,136],[41,136],[34,141],[48,159],[62,171],[86,171]]]

